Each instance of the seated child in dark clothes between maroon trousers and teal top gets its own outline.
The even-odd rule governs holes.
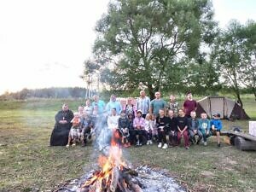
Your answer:
[[[202,138],[202,133],[199,130],[199,121],[196,119],[196,113],[195,111],[190,112],[191,118],[189,118],[189,142],[191,144],[199,144]],[[196,140],[195,136],[198,136],[199,138]]]

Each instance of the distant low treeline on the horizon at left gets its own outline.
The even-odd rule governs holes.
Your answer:
[[[6,91],[1,100],[25,100],[28,98],[83,98],[86,95],[86,89],[81,87],[66,88],[44,88],[44,89],[23,89],[17,92]]]

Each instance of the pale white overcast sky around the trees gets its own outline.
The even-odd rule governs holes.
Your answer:
[[[215,20],[256,20],[254,0],[213,0]],[[0,94],[23,88],[84,87],[96,20],[108,0],[0,0]]]

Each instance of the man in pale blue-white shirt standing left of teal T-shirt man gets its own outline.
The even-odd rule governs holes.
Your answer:
[[[145,90],[140,91],[140,97],[137,98],[136,108],[137,110],[142,111],[143,118],[146,117],[147,113],[149,112],[150,107],[150,99],[146,96]]]

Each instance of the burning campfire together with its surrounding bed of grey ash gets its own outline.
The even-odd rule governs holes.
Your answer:
[[[149,166],[132,169],[125,163],[119,135],[114,134],[108,150],[102,150],[98,170],[86,172],[82,177],[67,182],[55,192],[184,192],[165,170]],[[107,152],[108,151],[108,152]]]

